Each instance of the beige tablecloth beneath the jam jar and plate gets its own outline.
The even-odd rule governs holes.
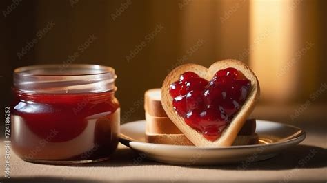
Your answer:
[[[270,160],[253,162],[245,170],[237,169],[239,165],[175,166],[146,159],[135,164],[137,153],[119,144],[112,160],[75,166],[32,164],[12,153],[9,182],[326,182],[326,125],[304,129],[307,138],[297,147]],[[1,142],[0,181],[7,182],[3,178],[3,140]],[[315,151],[313,157],[310,151]]]

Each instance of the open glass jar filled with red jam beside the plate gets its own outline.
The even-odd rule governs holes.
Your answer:
[[[115,70],[34,65],[14,70],[12,148],[28,162],[74,164],[110,158],[118,144]]]

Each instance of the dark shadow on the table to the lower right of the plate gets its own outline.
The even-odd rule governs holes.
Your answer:
[[[313,169],[327,166],[327,151],[321,147],[297,145],[286,149],[274,158],[250,161],[250,158],[241,164],[220,166],[194,166],[200,169],[226,170],[285,170],[285,169]]]

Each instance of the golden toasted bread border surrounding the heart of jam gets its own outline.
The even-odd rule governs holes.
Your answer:
[[[211,142],[202,136],[201,133],[192,129],[192,127],[188,126],[186,122],[184,122],[184,118],[179,116],[172,107],[172,97],[169,94],[170,84],[179,80],[179,76],[184,72],[195,72],[201,78],[205,78],[206,80],[211,80],[215,73],[221,69],[226,69],[228,67],[234,67],[238,69],[246,78],[251,81],[251,91],[248,94],[246,102],[242,105],[241,109],[235,114],[234,118],[224,129],[220,138]],[[203,67],[201,65],[196,64],[186,64],[176,67],[172,70],[164,80],[162,85],[161,92],[161,100],[164,110],[166,114],[175,123],[175,125],[179,128],[179,130],[184,133],[184,135],[197,147],[225,147],[230,146],[235,141],[237,137],[237,133],[241,130],[241,127],[244,125],[246,118],[250,116],[250,113],[255,107],[255,102],[259,98],[259,82],[255,74],[251,71],[251,69],[241,61],[237,60],[224,60],[213,63],[209,68]]]

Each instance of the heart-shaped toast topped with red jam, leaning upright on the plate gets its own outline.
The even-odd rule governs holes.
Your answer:
[[[161,89],[166,114],[197,147],[232,145],[260,93],[255,74],[237,60],[217,61],[209,68],[181,65]]]

